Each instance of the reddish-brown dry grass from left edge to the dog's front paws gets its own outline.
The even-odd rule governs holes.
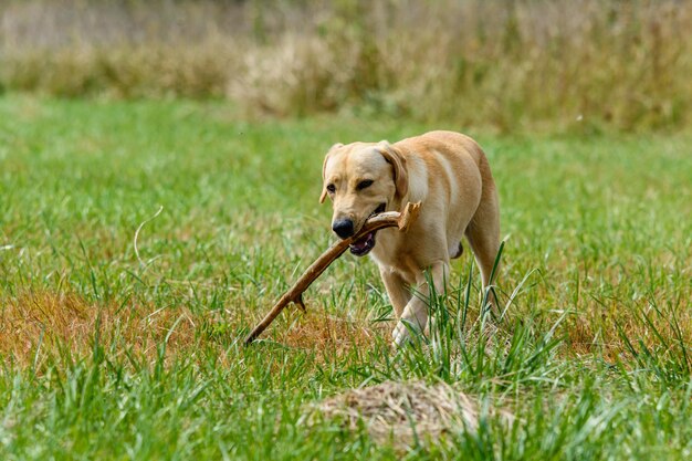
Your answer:
[[[367,347],[378,333],[366,318],[337,318],[319,306],[311,306],[307,314],[292,311],[286,310],[282,315],[285,322],[276,322],[264,337],[313,350],[318,357],[346,356],[354,347]],[[24,291],[6,298],[0,311],[0,356],[22,367],[41,369],[51,358],[88,357],[97,342],[114,357],[133,354],[150,359],[159,353],[158,347],[166,345],[170,357],[205,350],[220,354],[222,362],[232,360],[223,354],[224,347],[241,339],[238,328],[250,323],[233,314],[238,312],[195,313],[187,307],[154,304],[90,303],[69,290]]]

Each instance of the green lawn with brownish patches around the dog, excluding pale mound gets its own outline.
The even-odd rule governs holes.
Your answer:
[[[345,256],[308,291],[306,315],[285,312],[241,346],[332,238],[317,203],[326,148],[432,127],[249,123],[221,102],[1,98],[0,458],[690,458],[685,132],[436,124],[489,155],[506,317],[480,314],[466,252],[447,293],[421,294],[434,334],[397,353],[374,263]],[[306,423],[308,407],[389,380],[473,396],[478,430],[401,447],[338,419]]]

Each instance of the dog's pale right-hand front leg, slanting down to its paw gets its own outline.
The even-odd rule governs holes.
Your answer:
[[[437,293],[442,293],[444,290],[444,283],[447,274],[449,273],[449,263],[445,261],[438,261],[430,266],[430,276],[434,284]],[[411,329],[415,332],[424,332],[428,324],[428,302],[426,296],[430,293],[428,280],[423,272],[417,276],[416,293],[410,298],[401,318],[397,323],[392,332],[395,346],[401,346],[410,339]]]

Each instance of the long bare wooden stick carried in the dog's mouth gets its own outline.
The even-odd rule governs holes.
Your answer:
[[[252,343],[258,336],[264,332],[264,329],[276,318],[276,316],[283,311],[289,304],[295,303],[303,311],[305,311],[305,303],[303,302],[303,292],[307,290],[307,287],[319,276],[322,273],[332,264],[338,256],[344,254],[348,245],[353,242],[356,242],[367,235],[369,232],[385,229],[385,228],[399,228],[399,231],[406,232],[409,226],[418,218],[418,213],[420,212],[420,202],[418,203],[407,203],[406,208],[402,212],[398,211],[387,211],[384,213],[379,213],[368,219],[363,228],[355,235],[339,240],[334,243],[327,251],[322,253],[319,258],[313,262],[310,268],[301,275],[301,277],[295,282],[295,284],[284,293],[283,296],[274,304],[274,307],[264,316],[262,322],[258,324],[258,326],[250,332],[248,337],[245,338],[245,345]]]

